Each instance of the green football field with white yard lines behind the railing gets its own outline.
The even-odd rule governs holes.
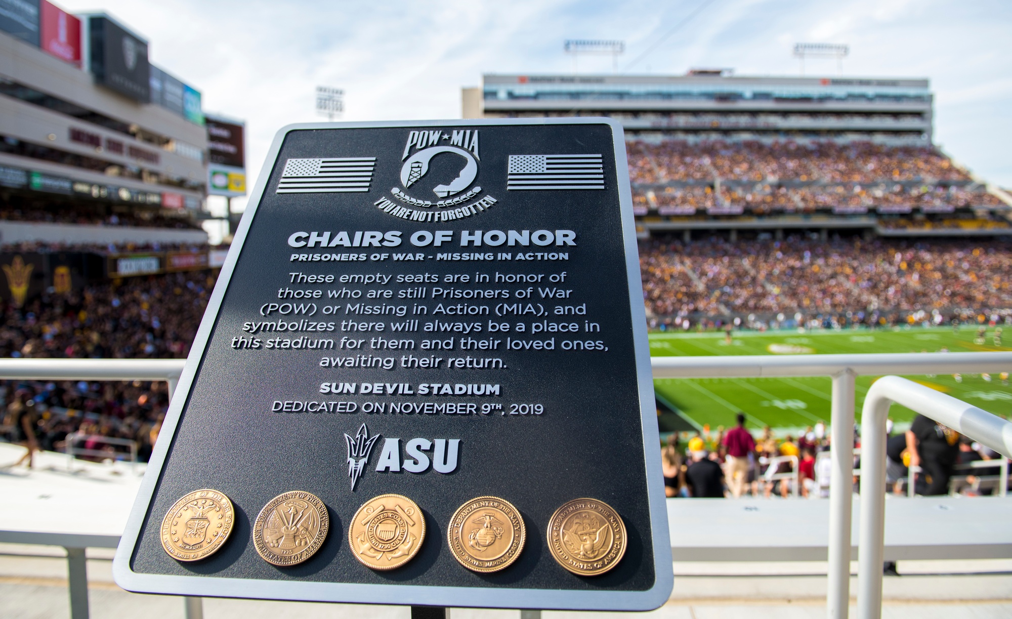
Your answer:
[[[724,333],[652,333],[652,356],[775,355],[900,352],[1007,351],[1012,347],[1012,329],[1005,341],[995,340],[989,329],[982,343],[976,327],[959,331],[946,328],[899,328],[875,331],[735,332],[731,344]],[[976,340],[976,341],[975,341]],[[1008,368],[1012,372],[1012,367]],[[907,376],[985,411],[1008,418],[1012,414],[1012,385],[1000,374],[952,374]],[[858,376],[855,409],[860,422],[864,394],[877,376]],[[694,378],[654,381],[658,400],[674,411],[661,415],[661,431],[695,428],[708,424],[730,427],[739,411],[748,416],[753,429],[770,426],[778,434],[795,433],[818,421],[830,419],[830,378]],[[913,420],[909,409],[894,405],[890,418],[904,428]]]

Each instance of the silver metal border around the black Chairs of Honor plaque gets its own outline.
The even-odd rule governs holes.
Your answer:
[[[611,127],[615,168],[618,179],[618,201],[621,211],[622,242],[629,286],[629,310],[632,318],[632,338],[636,354],[637,381],[640,390],[640,416],[644,441],[644,466],[647,470],[647,498],[650,507],[651,533],[654,540],[654,586],[646,591],[579,591],[545,589],[511,589],[491,587],[432,587],[421,585],[360,585],[351,583],[319,583],[232,579],[197,576],[165,576],[140,573],[131,567],[131,557],[137,545],[155,487],[162,475],[165,458],[179,426],[183,405],[189,400],[193,378],[203,358],[212,329],[218,319],[222,299],[236,268],[239,254],[256,210],[270,179],[281,144],[289,131],[311,129],[421,127],[421,126],[496,126],[545,124],[606,124]],[[637,249],[636,223],[632,217],[632,194],[629,189],[628,162],[625,155],[624,132],[612,118],[483,118],[459,120],[417,120],[380,122],[310,122],[289,124],[274,136],[267,158],[260,170],[239,229],[233,237],[228,257],[222,266],[215,290],[197,329],[193,346],[175,394],[162,424],[163,440],[155,444],[147,471],[131,510],[130,518],[112,561],[116,585],[135,593],[218,598],[249,598],[301,602],[343,602],[353,604],[396,604],[416,606],[446,606],[472,608],[527,608],[558,610],[649,611],[667,602],[674,586],[671,565],[671,541],[668,535],[668,512],[661,476],[660,436],[654,403],[654,380],[650,366],[650,343],[647,339],[647,317],[643,306],[643,283],[640,278],[640,255]],[[234,543],[234,542],[233,542]]]

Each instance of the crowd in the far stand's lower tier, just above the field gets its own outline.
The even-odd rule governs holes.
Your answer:
[[[998,241],[653,240],[641,244],[640,266],[647,308],[668,328],[699,315],[850,312],[859,322],[924,311],[941,323],[955,308],[1012,307],[1012,249]]]

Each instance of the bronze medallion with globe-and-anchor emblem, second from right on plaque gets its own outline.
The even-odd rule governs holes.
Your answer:
[[[479,497],[453,513],[446,539],[453,558],[468,569],[499,571],[520,556],[526,529],[513,504],[498,497]]]

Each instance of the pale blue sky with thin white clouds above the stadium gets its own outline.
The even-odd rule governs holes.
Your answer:
[[[459,118],[483,73],[571,73],[567,38],[620,39],[618,69],[799,74],[795,42],[850,47],[845,76],[922,77],[935,143],[1012,187],[1012,2],[1007,0],[57,0],[103,10],[149,39],[153,63],[200,90],[205,111],[247,123],[250,184],[274,134],[320,121],[318,85],[344,120]],[[580,73],[611,72],[583,58]],[[808,61],[807,75],[836,75]]]

